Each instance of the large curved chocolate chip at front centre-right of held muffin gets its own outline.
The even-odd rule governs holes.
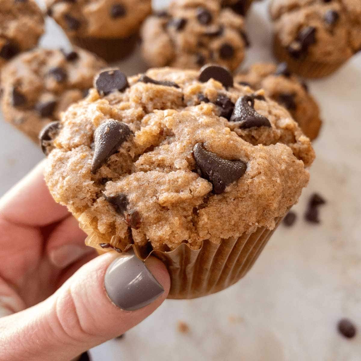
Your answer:
[[[202,178],[213,184],[213,192],[223,193],[226,187],[245,173],[247,164],[241,160],[227,160],[207,151],[202,143],[193,148],[193,157]]]

